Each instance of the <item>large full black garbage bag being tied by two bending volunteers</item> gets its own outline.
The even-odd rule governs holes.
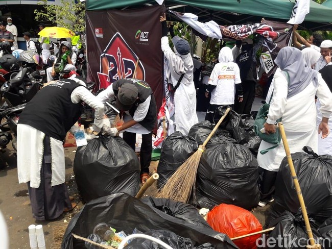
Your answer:
[[[84,201],[139,190],[139,160],[133,149],[121,138],[100,136],[78,147],[74,159],[77,188]]]

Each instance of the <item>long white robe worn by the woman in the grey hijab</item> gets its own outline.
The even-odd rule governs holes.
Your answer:
[[[272,89],[273,97],[268,114],[268,123],[274,123],[280,117],[289,143],[290,152],[301,152],[303,146],[310,146],[318,150],[318,130],[316,127],[316,106],[315,95],[321,99],[320,112],[323,116],[329,117],[332,113],[332,93],[326,83],[318,75],[318,86],[310,83],[300,93],[287,98],[288,82],[284,74],[277,70],[274,74],[267,102],[270,99]],[[278,171],[282,159],[286,156],[282,141],[279,146],[262,155],[260,151],[273,146],[271,143],[262,141],[259,146],[257,161],[258,166],[269,171]]]

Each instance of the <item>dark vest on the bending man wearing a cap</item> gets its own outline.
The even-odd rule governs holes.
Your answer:
[[[140,81],[140,80],[125,79],[125,80],[115,81],[112,84],[115,97],[117,97],[118,88],[125,83],[134,84],[138,89],[138,99],[133,105],[133,107],[129,110],[129,113],[132,117],[134,116],[137,106],[145,102],[147,98],[151,95],[151,101],[148,113],[145,116],[145,118],[138,123],[148,131],[152,131],[157,121],[157,105],[151,87],[145,81]]]

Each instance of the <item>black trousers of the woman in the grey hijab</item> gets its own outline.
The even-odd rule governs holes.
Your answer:
[[[259,167],[259,189],[260,201],[266,202],[271,200],[274,194],[274,184],[277,178],[278,171],[269,171]]]

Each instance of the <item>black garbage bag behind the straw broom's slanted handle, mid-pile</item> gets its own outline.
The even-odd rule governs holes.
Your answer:
[[[210,123],[209,121],[205,120],[199,123],[196,123],[188,133],[188,137],[193,138],[195,141],[197,141],[198,145],[201,145],[204,143],[205,139],[210,135],[211,131],[214,129],[215,124]],[[220,127],[219,127],[220,128]],[[209,147],[213,144],[220,144],[224,142],[236,142],[232,138],[232,135],[229,131],[218,129],[211,137],[209,142],[207,143],[206,147]]]

